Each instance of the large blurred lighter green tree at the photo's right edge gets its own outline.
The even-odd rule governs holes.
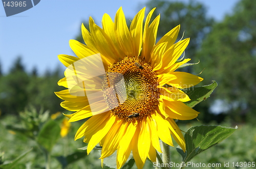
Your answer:
[[[233,14],[214,25],[198,52],[205,82],[216,80],[212,99],[222,99],[230,107],[230,117],[243,122],[256,108],[256,1],[242,0]],[[255,110],[254,110],[255,112]],[[255,115],[254,115],[255,116]]]

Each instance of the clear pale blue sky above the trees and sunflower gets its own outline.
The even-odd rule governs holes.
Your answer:
[[[179,0],[188,2],[188,0]],[[238,0],[197,0],[207,8],[207,16],[217,21],[232,12]],[[74,55],[69,40],[80,34],[81,22],[90,16],[97,24],[108,13],[114,18],[122,6],[124,14],[133,18],[144,7],[146,0],[88,1],[88,0],[41,0],[35,7],[6,17],[0,5],[0,63],[7,73],[18,57],[22,56],[27,71],[36,67],[40,74],[47,69],[61,66],[58,54]],[[160,20],[161,21],[161,20]],[[182,25],[181,25],[182,26]]]

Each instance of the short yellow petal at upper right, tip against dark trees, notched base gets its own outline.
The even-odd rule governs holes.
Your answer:
[[[168,42],[166,49],[168,49],[170,46],[172,46],[179,34],[180,31],[180,25],[176,26],[174,29],[170,30],[167,34],[165,34],[156,44],[159,45],[163,42]]]

